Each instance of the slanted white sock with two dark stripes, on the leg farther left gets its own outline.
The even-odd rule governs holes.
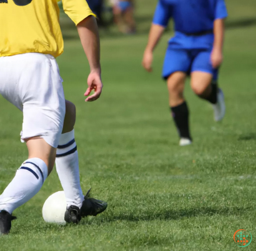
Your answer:
[[[17,170],[14,179],[0,195],[0,210],[9,214],[39,192],[48,175],[47,165],[38,158],[28,159]]]

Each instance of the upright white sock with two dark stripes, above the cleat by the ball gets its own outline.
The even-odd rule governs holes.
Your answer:
[[[56,170],[67,200],[67,207],[82,207],[84,195],[80,185],[78,154],[74,130],[61,134],[56,154]]]

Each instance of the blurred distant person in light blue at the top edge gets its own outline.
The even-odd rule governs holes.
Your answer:
[[[114,19],[120,32],[124,34],[135,33],[134,1],[111,0]]]

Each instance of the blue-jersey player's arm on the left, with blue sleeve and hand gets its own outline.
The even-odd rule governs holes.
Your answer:
[[[167,26],[171,16],[170,7],[165,6],[165,4],[159,0],[157,7],[155,9],[154,19],[149,32],[149,40],[147,46],[145,47],[144,56],[142,59],[142,66],[146,71],[152,71],[152,61],[153,61],[153,51],[157,46],[164,29]]]

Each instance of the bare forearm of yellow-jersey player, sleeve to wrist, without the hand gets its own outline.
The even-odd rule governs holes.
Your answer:
[[[91,71],[101,72],[100,42],[96,18],[89,16],[77,24],[77,31],[86,53]]]

